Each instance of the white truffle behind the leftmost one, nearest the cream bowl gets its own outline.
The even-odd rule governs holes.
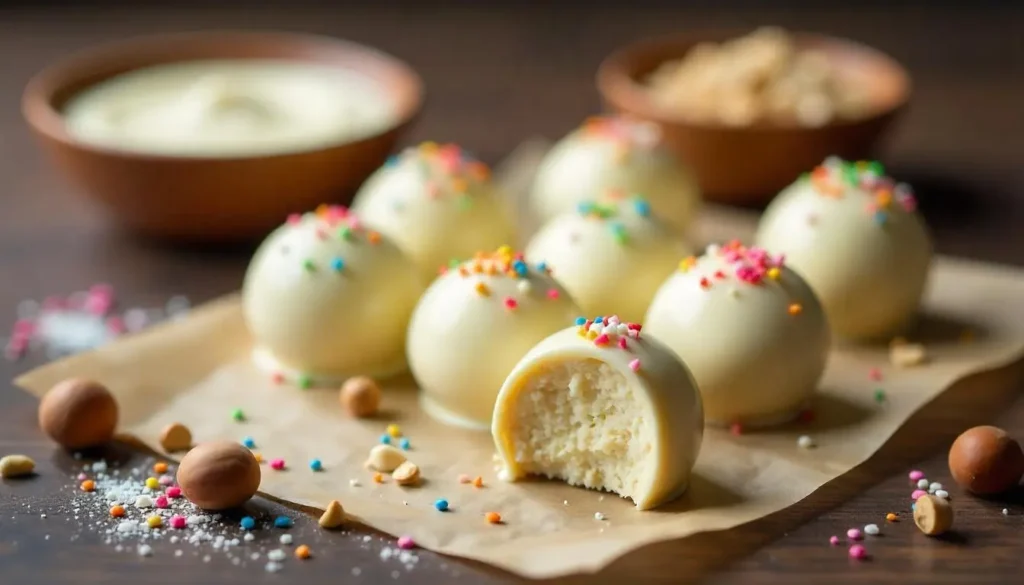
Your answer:
[[[392,157],[362,184],[352,209],[427,279],[453,259],[514,241],[490,170],[455,144],[424,142]]]

